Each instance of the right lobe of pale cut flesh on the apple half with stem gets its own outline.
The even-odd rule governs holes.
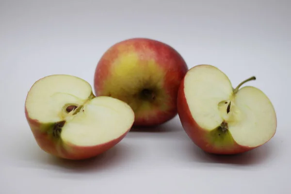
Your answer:
[[[257,147],[268,142],[276,132],[277,119],[270,99],[258,88],[245,86],[233,100],[233,120],[228,130],[237,144]]]

